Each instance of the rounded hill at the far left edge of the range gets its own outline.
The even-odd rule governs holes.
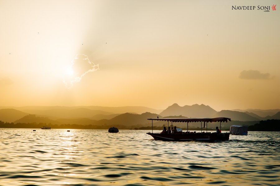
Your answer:
[[[23,116],[28,115],[26,112],[18,111],[16,109],[1,109],[0,110],[0,120],[3,122],[14,122],[22,118]]]

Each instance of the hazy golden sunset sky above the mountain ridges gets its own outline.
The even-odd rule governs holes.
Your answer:
[[[0,0],[0,106],[279,109],[279,23],[279,0]]]

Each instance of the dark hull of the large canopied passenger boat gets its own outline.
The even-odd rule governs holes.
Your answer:
[[[205,142],[218,142],[228,141],[230,133],[196,133],[196,134],[159,134],[147,133],[156,140],[162,141],[205,141]]]

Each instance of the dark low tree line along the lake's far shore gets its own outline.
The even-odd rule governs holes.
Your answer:
[[[51,124],[51,123],[8,123],[0,121],[0,128],[27,128],[27,129],[40,129],[41,127],[51,127],[52,129],[109,129],[113,127],[111,125],[77,125],[77,124]],[[163,126],[154,126],[154,130],[162,130]],[[115,125],[118,129],[135,129],[135,130],[151,130],[152,126],[124,126],[124,125]],[[187,130],[187,128],[182,128]],[[200,127],[189,128],[189,130],[201,130]],[[206,128],[202,128],[206,130]],[[211,128],[208,128],[211,130]],[[229,129],[224,129],[229,130]],[[261,120],[259,123],[250,125],[248,131],[280,131],[280,120]]]

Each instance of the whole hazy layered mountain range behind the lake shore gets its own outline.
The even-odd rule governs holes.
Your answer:
[[[261,115],[261,116],[260,116]],[[45,123],[53,125],[150,125],[153,117],[229,117],[232,121],[259,121],[280,119],[280,109],[222,110],[194,104],[183,107],[173,104],[165,110],[148,107],[0,107],[0,121],[8,123]],[[161,125],[164,122],[155,123]],[[236,125],[236,124],[235,124]],[[1,127],[1,126],[0,126]]]

